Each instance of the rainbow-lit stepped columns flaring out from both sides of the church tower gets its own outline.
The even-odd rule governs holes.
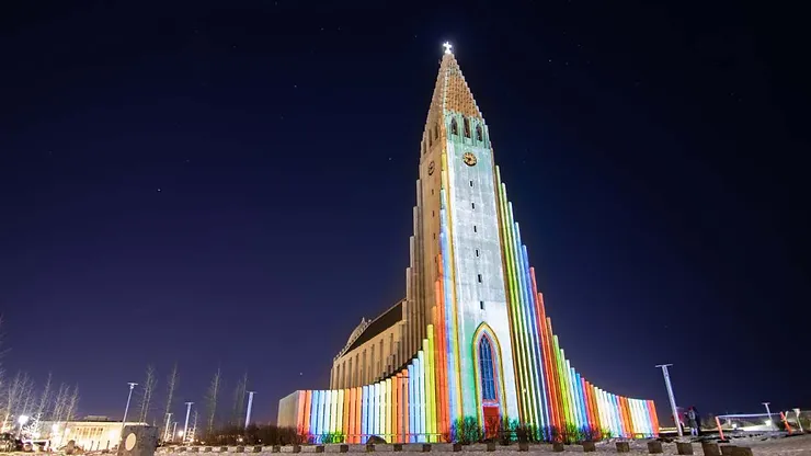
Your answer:
[[[560,349],[558,337],[552,333],[551,320],[546,316],[544,297],[537,290],[535,272],[529,266],[527,249],[521,243],[518,224],[513,220],[512,205],[506,198],[506,186],[501,182],[496,168],[496,200],[505,258],[506,288],[510,310],[513,362],[516,377],[515,389],[507,391],[503,376],[496,375],[499,395],[515,395],[521,423],[540,430],[569,426],[608,431],[613,436],[638,437],[659,433],[659,423],[653,401],[629,399],[606,392],[571,367]],[[444,213],[444,210],[443,210]],[[435,284],[444,297],[436,306],[434,321],[444,321],[439,327],[430,324],[429,337],[407,368],[384,380],[363,387],[339,390],[296,391],[284,398],[282,410],[295,411],[292,421],[301,433],[318,440],[327,434],[341,434],[347,443],[365,443],[372,435],[387,442],[441,442],[452,432],[452,424],[462,415],[462,391],[460,369],[456,366],[467,362],[478,363],[478,341],[487,334],[495,344],[498,339],[487,326],[481,334],[473,337],[473,346],[460,347],[458,341],[448,338],[455,333],[456,318],[445,306],[452,299],[453,289],[448,261],[447,221],[443,214],[441,236],[441,280]],[[494,350],[498,352],[499,350]],[[495,371],[505,368],[495,360]],[[469,369],[472,381],[480,385],[479,369]],[[475,394],[471,396],[476,396]],[[505,400],[501,400],[505,402]],[[479,420],[484,422],[482,408]],[[549,431],[545,431],[549,432]],[[546,435],[552,438],[552,435]]]

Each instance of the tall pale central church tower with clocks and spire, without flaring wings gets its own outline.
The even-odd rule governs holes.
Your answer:
[[[490,133],[446,44],[422,138],[414,253],[449,422],[518,417],[496,194]]]

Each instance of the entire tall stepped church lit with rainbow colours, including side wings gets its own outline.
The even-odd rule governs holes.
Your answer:
[[[460,420],[491,432],[659,433],[653,401],[613,395],[570,365],[535,283],[484,117],[450,45],[420,147],[406,297],[362,320],[330,389],[279,401],[281,426],[347,443],[442,442]]]

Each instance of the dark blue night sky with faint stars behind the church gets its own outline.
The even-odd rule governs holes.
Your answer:
[[[662,417],[661,363],[703,413],[811,407],[803,26],[650,3],[2,2],[7,375],[115,418],[150,363],[175,413],[218,366],[259,420],[328,387],[404,295],[447,39],[572,365]]]

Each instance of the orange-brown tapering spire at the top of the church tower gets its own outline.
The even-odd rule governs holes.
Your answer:
[[[429,110],[429,119],[438,114],[454,111],[469,117],[482,118],[472,92],[465,81],[459,64],[453,53],[447,50],[442,57],[439,75],[436,77],[434,96]]]

